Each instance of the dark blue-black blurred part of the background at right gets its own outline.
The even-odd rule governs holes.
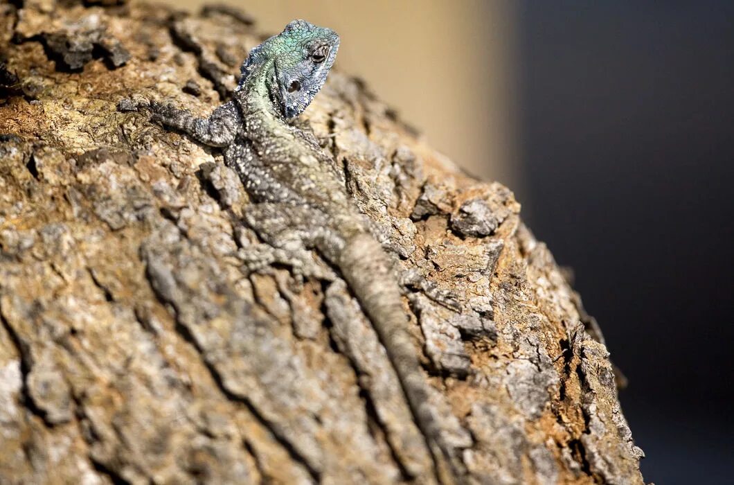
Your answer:
[[[630,379],[646,481],[732,484],[734,2],[518,9],[526,220]]]

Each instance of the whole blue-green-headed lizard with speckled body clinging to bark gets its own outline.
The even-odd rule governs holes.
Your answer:
[[[354,293],[399,379],[444,483],[462,481],[457,453],[442,439],[429,384],[407,331],[402,293],[388,254],[359,212],[337,162],[316,137],[291,122],[327,79],[339,48],[332,29],[289,23],[252,48],[233,98],[208,118],[150,101],[152,121],[222,148],[255,204],[244,218],[274,247],[294,239],[335,266]]]

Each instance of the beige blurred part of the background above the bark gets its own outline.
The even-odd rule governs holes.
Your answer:
[[[197,10],[205,0],[163,0]],[[294,18],[341,36],[339,68],[466,170],[518,190],[512,0],[224,0],[265,33]]]

